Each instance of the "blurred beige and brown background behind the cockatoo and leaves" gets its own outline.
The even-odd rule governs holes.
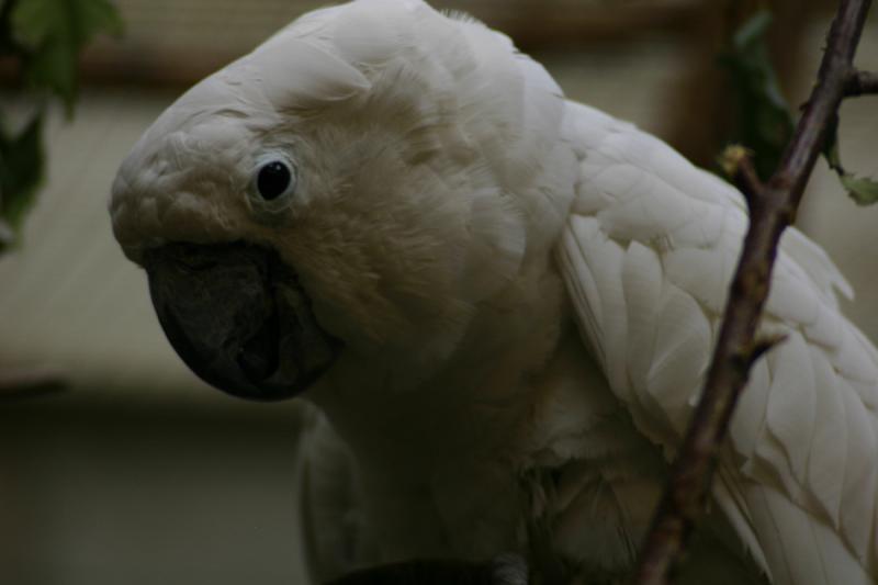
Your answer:
[[[144,273],[113,240],[106,199],[122,158],[185,87],[325,3],[117,0],[124,35],[85,53],[76,116],[52,112],[46,181],[19,245],[0,256],[0,583],[303,582],[299,405],[228,398],[182,367],[153,315]],[[503,30],[569,97],[713,167],[731,124],[717,55],[748,3],[756,2],[434,5]],[[811,88],[834,3],[768,3],[773,59],[795,105]],[[878,69],[876,14],[858,61]],[[13,111],[27,111],[5,94]],[[878,175],[875,99],[845,102],[841,137],[845,165]],[[799,225],[847,274],[858,294],[847,312],[878,339],[878,209],[855,206],[821,161]]]

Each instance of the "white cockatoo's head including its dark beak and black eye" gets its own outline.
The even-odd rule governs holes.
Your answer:
[[[154,123],[113,184],[114,233],[219,389],[293,395],[346,356],[405,385],[548,262],[573,188],[562,109],[477,23],[419,1],[325,9]]]

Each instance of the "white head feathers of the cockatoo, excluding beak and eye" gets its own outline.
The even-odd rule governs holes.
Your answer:
[[[167,241],[273,248],[333,333],[402,349],[426,324],[416,359],[436,362],[477,303],[548,263],[576,177],[563,112],[542,67],[474,21],[415,0],[316,11],[156,121],[114,184],[114,229],[135,260]],[[296,170],[271,214],[251,189],[266,153]]]

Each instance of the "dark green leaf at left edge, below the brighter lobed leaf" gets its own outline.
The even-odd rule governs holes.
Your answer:
[[[21,225],[34,202],[44,168],[42,113],[15,135],[0,128],[0,220],[7,230]]]

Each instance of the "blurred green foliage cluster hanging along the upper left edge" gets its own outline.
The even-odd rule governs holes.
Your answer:
[[[108,0],[0,0],[0,57],[15,64],[18,91],[33,104],[21,128],[0,112],[0,250],[15,241],[45,171],[47,106],[57,99],[72,115],[80,52],[94,35],[121,31]]]

